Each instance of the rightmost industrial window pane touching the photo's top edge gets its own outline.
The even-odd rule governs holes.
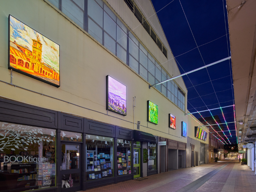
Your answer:
[[[88,0],[88,15],[103,27],[103,10],[94,0]]]

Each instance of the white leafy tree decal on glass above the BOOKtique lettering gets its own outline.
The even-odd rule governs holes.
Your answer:
[[[0,123],[0,151],[4,151],[4,149],[15,151],[20,148],[27,151],[28,147],[26,147],[26,145],[40,145],[40,141],[53,141],[50,137],[44,137],[43,130],[40,128],[27,125]],[[55,137],[53,132],[51,136]]]

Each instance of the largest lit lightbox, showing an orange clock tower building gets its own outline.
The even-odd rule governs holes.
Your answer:
[[[9,15],[8,68],[60,87],[60,45]]]

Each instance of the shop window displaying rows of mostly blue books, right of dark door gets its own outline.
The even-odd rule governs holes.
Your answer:
[[[113,177],[113,138],[86,135],[86,180]]]

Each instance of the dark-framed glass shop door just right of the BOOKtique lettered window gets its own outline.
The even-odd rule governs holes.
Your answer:
[[[81,189],[81,144],[61,142],[61,190],[76,191]]]

